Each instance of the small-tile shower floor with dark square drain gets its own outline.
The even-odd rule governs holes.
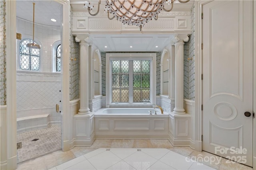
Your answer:
[[[24,162],[61,149],[60,124],[49,125],[45,129],[37,129],[17,134],[17,143],[22,148],[17,150],[17,162]]]

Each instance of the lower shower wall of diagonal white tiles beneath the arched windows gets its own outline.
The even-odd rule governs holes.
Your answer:
[[[26,71],[28,72],[28,71]],[[55,107],[61,100],[60,73],[17,73],[17,111]]]

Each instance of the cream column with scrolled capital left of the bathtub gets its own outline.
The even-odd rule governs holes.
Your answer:
[[[80,109],[78,114],[86,115],[89,109],[89,37],[88,35],[78,35],[76,42],[80,42]]]

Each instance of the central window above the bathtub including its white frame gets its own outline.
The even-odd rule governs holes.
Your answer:
[[[107,53],[106,105],[155,103],[153,96],[156,95],[156,85],[153,80],[156,79],[156,58],[150,56],[151,53]]]

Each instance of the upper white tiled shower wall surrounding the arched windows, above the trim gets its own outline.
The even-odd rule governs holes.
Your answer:
[[[33,36],[33,23],[16,19],[17,32],[22,34],[22,39]],[[40,49],[40,72],[52,72],[52,45],[60,40],[60,27],[42,26],[35,24],[35,41],[41,46]],[[18,41],[19,46],[20,41]],[[17,63],[19,63],[17,55]],[[19,69],[19,66],[18,66]]]

